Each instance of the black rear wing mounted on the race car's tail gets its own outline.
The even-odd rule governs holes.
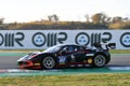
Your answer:
[[[108,44],[94,43],[93,46],[96,47],[96,48],[103,48],[103,46],[105,46],[106,49],[115,49],[116,48],[116,43],[108,43]]]

